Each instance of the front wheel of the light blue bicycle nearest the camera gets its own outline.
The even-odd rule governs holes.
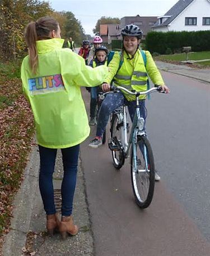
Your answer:
[[[146,136],[139,136],[132,148],[131,179],[136,203],[147,208],[155,187],[155,164],[152,148]]]

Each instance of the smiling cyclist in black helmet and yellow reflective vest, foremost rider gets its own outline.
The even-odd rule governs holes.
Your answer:
[[[122,29],[121,34],[123,37],[123,49],[120,54],[115,52],[113,59],[110,61],[109,75],[102,84],[103,91],[110,90],[110,83],[112,80],[114,80],[115,86],[122,86],[136,91],[146,91],[148,74],[154,84],[161,86],[162,90],[168,93],[169,88],[165,86],[161,74],[148,51],[145,51],[147,61],[146,66],[144,65],[143,56],[139,50],[142,30],[138,26],[131,24],[126,25]],[[120,63],[122,63],[122,65],[120,65]],[[141,113],[144,115],[145,96],[139,98]],[[130,118],[133,121],[136,106],[135,97],[126,95],[122,92],[109,93],[102,102],[97,122],[96,137],[90,142],[90,147],[97,148],[102,145],[102,134],[108,123],[109,115],[116,108],[123,105],[125,101],[127,101]],[[143,117],[144,119],[146,118],[145,115]],[[156,175],[156,179],[157,178]],[[160,177],[158,179],[160,179]]]

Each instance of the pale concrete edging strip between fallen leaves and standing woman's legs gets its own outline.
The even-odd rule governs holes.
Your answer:
[[[2,247],[3,255],[16,255],[25,246],[26,234],[29,231],[31,214],[34,205],[36,186],[39,173],[38,147],[32,147],[29,162],[24,173],[24,182],[13,201],[14,211],[11,219],[10,232],[6,235]],[[31,175],[31,170],[34,172]]]

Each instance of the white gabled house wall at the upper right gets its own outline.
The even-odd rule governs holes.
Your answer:
[[[197,25],[185,25],[185,17],[197,17]],[[210,25],[202,25],[203,17],[210,17],[210,1],[194,0],[181,14],[168,26],[169,31],[198,31],[210,30]],[[155,31],[164,31],[157,30]],[[164,31],[166,32],[166,31]]]

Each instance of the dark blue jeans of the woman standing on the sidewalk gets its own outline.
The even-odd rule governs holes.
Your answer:
[[[69,216],[72,214],[73,208],[73,196],[77,180],[77,165],[80,145],[61,149],[61,151],[64,170],[61,186],[61,213],[63,216]],[[56,154],[57,149],[49,149],[39,145],[39,189],[46,214],[54,214],[56,212],[53,189],[53,172]]]

